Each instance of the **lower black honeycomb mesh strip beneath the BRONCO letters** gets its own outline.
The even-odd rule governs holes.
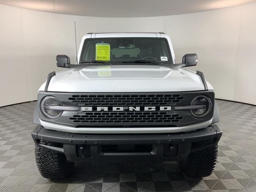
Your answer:
[[[85,112],[70,118],[74,123],[171,123],[183,117],[172,112]]]

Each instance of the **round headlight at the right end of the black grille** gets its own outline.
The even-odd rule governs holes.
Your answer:
[[[204,118],[212,109],[212,101],[207,96],[200,95],[192,100],[191,106],[194,106],[190,112],[195,118]]]

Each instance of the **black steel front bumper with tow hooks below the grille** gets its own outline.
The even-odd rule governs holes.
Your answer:
[[[194,132],[170,134],[73,134],[36,126],[32,138],[38,146],[66,155],[76,161],[177,161],[185,160],[190,152],[216,145],[222,131],[218,126]],[[50,141],[58,147],[40,144]],[[206,141],[203,144],[202,142]]]

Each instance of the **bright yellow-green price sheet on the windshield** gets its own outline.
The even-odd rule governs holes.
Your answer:
[[[110,44],[95,44],[96,56],[95,60],[109,61],[110,60]]]

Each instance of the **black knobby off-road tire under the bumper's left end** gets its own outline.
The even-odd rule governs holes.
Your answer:
[[[40,141],[40,144],[58,147],[58,144],[48,141]],[[66,178],[72,173],[73,162],[68,162],[64,154],[35,146],[36,164],[40,174],[44,178],[59,179]]]

